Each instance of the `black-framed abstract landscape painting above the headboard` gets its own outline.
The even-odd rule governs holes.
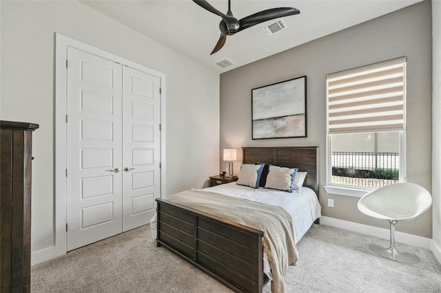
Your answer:
[[[252,138],[306,138],[307,77],[252,89]]]

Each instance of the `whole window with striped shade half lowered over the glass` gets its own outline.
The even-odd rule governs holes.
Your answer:
[[[404,181],[406,58],[327,76],[328,185]]]

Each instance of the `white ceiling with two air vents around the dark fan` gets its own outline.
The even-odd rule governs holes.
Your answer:
[[[287,29],[268,36],[260,23],[228,36],[224,47],[210,56],[220,36],[220,17],[190,0],[82,1],[108,17],[145,34],[172,50],[219,73],[338,32],[422,0],[232,0],[234,17],[242,19],[261,10],[294,7],[300,14],[284,17]],[[208,0],[227,12],[227,0]],[[276,19],[275,19],[276,20]],[[214,63],[229,58],[236,65],[221,69]]]

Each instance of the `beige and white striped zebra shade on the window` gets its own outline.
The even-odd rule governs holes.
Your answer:
[[[406,57],[327,75],[328,131],[404,129]]]

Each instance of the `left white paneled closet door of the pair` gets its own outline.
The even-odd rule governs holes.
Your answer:
[[[68,47],[67,250],[122,231],[122,67]]]

